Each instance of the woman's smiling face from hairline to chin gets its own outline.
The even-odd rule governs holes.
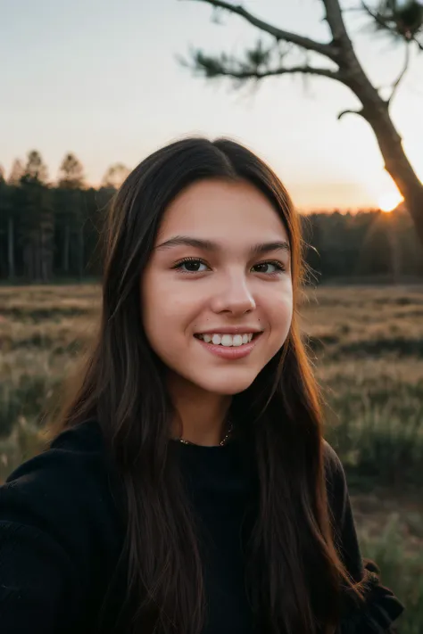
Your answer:
[[[180,383],[246,390],[286,341],[288,235],[246,182],[203,180],[170,203],[141,278],[145,334]]]

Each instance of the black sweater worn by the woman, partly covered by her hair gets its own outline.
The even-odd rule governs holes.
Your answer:
[[[343,556],[355,578],[363,573],[344,471],[326,445],[328,494]],[[178,443],[196,512],[212,538],[203,562],[209,618],[204,634],[250,634],[239,534],[251,481],[236,440],[224,447]],[[49,449],[18,467],[0,487],[0,631],[2,634],[95,634],[105,589],[107,626],[124,634],[116,615],[125,597],[117,565],[124,537],[112,465],[95,421],[62,432]],[[382,633],[403,610],[371,575],[364,608],[344,621],[342,634]]]

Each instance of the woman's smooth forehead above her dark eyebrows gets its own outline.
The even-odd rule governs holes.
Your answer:
[[[201,235],[225,241],[288,240],[268,198],[245,181],[203,180],[189,185],[165,210],[157,241],[172,235]]]

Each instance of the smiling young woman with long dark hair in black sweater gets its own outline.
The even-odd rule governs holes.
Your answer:
[[[228,140],[170,144],[104,237],[79,386],[0,489],[2,634],[394,631],[323,440],[278,177]]]

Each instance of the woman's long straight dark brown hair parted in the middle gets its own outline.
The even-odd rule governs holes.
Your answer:
[[[300,218],[274,172],[240,144],[186,138],[154,152],[116,193],[102,239],[102,317],[79,384],[56,431],[95,416],[120,474],[127,527],[131,631],[200,634],[206,605],[195,522],[170,459],[172,404],[162,362],[145,337],[140,279],[164,210],[205,178],[244,180],[264,193],[286,227],[292,252],[294,317],[283,348],[234,403],[251,421],[258,512],[247,586],[260,631],[335,631],[344,589],[362,588],[334,545],[325,483],[321,398],[302,341]],[[253,416],[252,416],[253,415]],[[244,420],[241,421],[244,424]]]

